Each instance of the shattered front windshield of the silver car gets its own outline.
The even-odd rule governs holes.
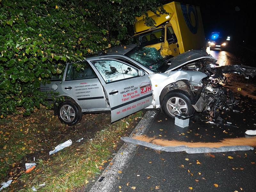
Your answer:
[[[169,67],[156,48],[136,47],[126,53],[125,56],[132,58],[155,73],[164,72]]]

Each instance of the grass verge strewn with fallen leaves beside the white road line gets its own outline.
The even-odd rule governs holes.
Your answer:
[[[22,172],[20,178],[14,179],[16,183],[14,182],[10,189],[32,191],[31,187],[35,186],[37,191],[72,191],[90,183],[90,180],[104,170],[104,165],[111,161],[111,155],[117,149],[120,137],[127,134],[134,119],[137,120],[141,115],[140,111],[113,124],[109,122],[109,119],[100,118],[97,121],[96,118],[95,124],[101,124],[102,127],[95,133],[92,140],[86,140],[82,145],[77,145],[74,142],[75,139],[72,139],[74,144],[68,148],[47,158],[38,159],[36,168],[30,173]],[[83,119],[91,120],[91,116],[90,114],[84,115]],[[100,114],[95,116],[99,117]],[[47,126],[47,129],[51,132],[52,126]],[[56,145],[59,143],[61,142],[56,142]],[[44,182],[44,187],[38,186]]]

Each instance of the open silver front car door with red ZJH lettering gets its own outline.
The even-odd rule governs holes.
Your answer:
[[[111,122],[152,104],[151,81],[143,70],[115,59],[90,60],[89,63],[97,70],[108,97]]]

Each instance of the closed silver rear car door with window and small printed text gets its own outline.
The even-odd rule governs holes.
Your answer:
[[[107,107],[103,87],[87,61],[78,63],[82,65],[79,71],[68,64],[62,81],[62,91],[74,99],[82,111],[104,110]]]

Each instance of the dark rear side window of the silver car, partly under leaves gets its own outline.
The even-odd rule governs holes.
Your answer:
[[[72,64],[68,65],[65,80],[97,78],[96,73],[93,71],[92,67],[89,65],[87,61],[84,61],[79,64],[82,64],[82,68],[80,70],[76,70],[76,68]]]

